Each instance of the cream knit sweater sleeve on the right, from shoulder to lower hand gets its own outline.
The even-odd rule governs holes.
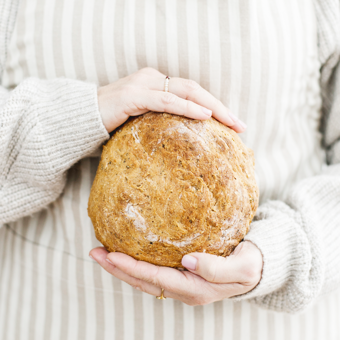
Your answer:
[[[244,240],[263,255],[259,284],[233,297],[297,312],[340,287],[340,2],[316,0],[323,146],[328,166],[291,189],[286,202],[261,205]]]

